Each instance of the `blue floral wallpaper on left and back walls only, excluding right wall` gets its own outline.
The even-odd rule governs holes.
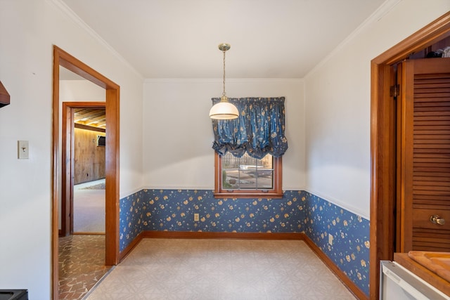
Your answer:
[[[215,199],[212,190],[141,190],[120,201],[120,251],[142,230],[300,233],[304,201],[301,191],[271,200]]]

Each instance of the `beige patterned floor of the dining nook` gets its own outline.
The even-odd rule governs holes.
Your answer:
[[[298,240],[143,239],[85,299],[355,299]]]

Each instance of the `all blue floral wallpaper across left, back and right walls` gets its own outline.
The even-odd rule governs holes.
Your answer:
[[[147,230],[304,232],[368,294],[368,220],[311,193],[288,190],[271,200],[215,199],[212,190],[140,190],[120,200],[120,252]]]

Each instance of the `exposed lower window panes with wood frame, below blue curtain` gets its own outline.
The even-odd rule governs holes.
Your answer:
[[[281,157],[235,157],[230,152],[215,159],[214,197],[283,197]]]

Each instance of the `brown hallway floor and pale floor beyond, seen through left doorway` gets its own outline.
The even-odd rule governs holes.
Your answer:
[[[74,186],[74,233],[59,237],[59,299],[82,299],[105,266],[105,179]]]

